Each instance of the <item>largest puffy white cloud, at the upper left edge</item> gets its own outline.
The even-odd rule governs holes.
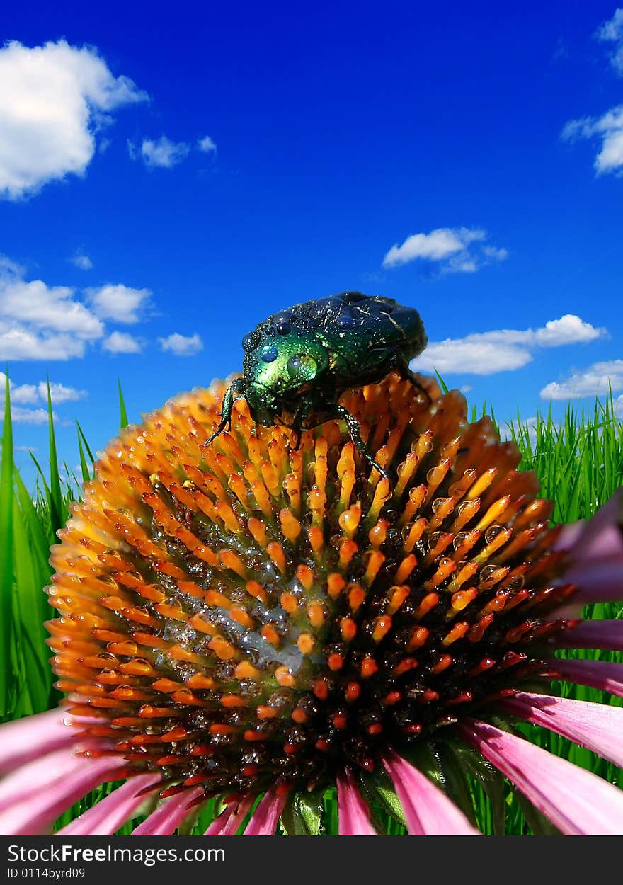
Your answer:
[[[114,77],[96,49],[65,40],[0,49],[0,196],[15,200],[49,181],[83,175],[95,132],[111,112],[147,99]]]

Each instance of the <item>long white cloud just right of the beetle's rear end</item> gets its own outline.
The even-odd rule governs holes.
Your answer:
[[[551,319],[536,329],[499,329],[475,332],[465,338],[429,342],[427,349],[411,361],[415,371],[443,374],[492,375],[527,366],[532,351],[539,347],[595,341],[607,332],[584,322],[573,313]]]

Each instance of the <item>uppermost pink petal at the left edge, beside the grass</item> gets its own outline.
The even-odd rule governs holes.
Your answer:
[[[69,746],[76,739],[70,723],[67,713],[57,708],[0,726],[0,774]]]

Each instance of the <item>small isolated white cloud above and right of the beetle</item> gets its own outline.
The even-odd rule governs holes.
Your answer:
[[[474,273],[481,266],[508,258],[508,250],[484,245],[487,237],[487,231],[478,227],[437,227],[430,234],[412,234],[391,247],[383,267],[436,261],[442,273]]]

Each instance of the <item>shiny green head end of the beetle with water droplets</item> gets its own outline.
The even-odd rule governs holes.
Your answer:
[[[280,402],[312,385],[328,366],[328,354],[314,335],[289,330],[287,335],[251,333],[244,347],[245,396],[256,420],[261,412],[279,411]],[[262,423],[264,423],[262,421]]]

